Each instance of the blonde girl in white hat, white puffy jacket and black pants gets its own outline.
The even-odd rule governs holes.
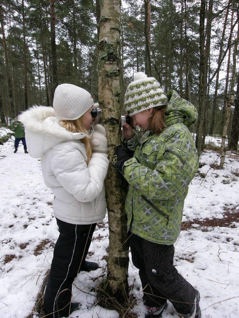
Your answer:
[[[105,217],[104,179],[109,160],[105,128],[93,121],[93,98],[71,84],[57,86],[53,108],[35,106],[21,115],[30,156],[41,158],[44,182],[54,193],[59,227],[44,298],[47,317],[67,317],[72,283],[80,270],[97,269],[85,261],[96,223]]]

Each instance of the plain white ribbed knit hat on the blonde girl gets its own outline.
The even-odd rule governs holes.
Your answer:
[[[55,89],[53,108],[58,121],[77,119],[93,104],[91,94],[76,85],[61,84]]]

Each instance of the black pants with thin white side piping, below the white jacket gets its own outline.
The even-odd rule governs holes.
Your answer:
[[[96,223],[75,225],[56,219],[60,235],[56,241],[47,279],[44,308],[47,317],[68,317],[72,283],[89,250]]]

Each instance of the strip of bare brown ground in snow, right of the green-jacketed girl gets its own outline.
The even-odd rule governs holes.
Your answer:
[[[239,222],[239,211],[236,210],[236,207],[228,207],[224,206],[223,210],[223,218],[213,218],[213,219],[204,219],[203,221],[199,221],[194,219],[192,221],[182,222],[181,229],[199,229],[202,232],[207,232],[208,227],[230,227],[235,228],[236,225],[233,222]],[[192,226],[194,224],[199,225],[199,227]]]

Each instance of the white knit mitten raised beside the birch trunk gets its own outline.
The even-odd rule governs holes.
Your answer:
[[[91,134],[92,151],[107,154],[107,138],[106,131],[102,125],[95,125]]]

